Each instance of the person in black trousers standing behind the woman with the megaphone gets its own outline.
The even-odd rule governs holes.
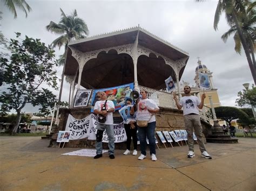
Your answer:
[[[132,104],[132,100],[131,98],[127,98],[125,105],[131,105]],[[128,111],[128,110],[127,110]],[[126,110],[125,110],[125,114],[126,114]],[[129,116],[128,114],[126,114],[127,117]],[[136,114],[134,114],[136,115]],[[127,120],[127,118],[126,118]],[[137,155],[137,125],[135,123],[135,121],[130,121],[129,124],[124,124],[124,129],[126,132],[126,136],[127,136],[127,141],[126,141],[126,151],[124,152],[125,155],[130,154],[130,149],[131,149],[131,140],[133,142],[133,153],[132,155]],[[131,139],[132,138],[132,139]]]

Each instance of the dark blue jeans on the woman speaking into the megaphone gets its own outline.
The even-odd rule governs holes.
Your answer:
[[[146,137],[147,139],[149,139],[150,155],[156,154],[156,140],[154,139],[154,129],[156,129],[156,122],[148,123],[145,128],[140,128],[138,126],[140,150],[143,155],[146,155]]]

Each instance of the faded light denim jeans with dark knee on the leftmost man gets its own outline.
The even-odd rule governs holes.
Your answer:
[[[97,130],[104,131],[106,129],[107,137],[109,138],[109,155],[114,154],[114,129],[113,125],[105,125],[98,123]],[[102,154],[102,141],[96,142],[96,154]]]

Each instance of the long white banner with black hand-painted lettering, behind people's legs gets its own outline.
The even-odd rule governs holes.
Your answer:
[[[69,140],[78,140],[83,138],[88,138],[89,140],[96,140],[96,126],[98,124],[97,116],[94,114],[90,114],[89,116],[83,119],[76,119],[75,117],[69,114],[68,121],[66,123],[65,131],[69,132]],[[120,124],[113,124],[114,128],[114,143],[125,142],[127,140],[124,123]],[[65,133],[62,135],[63,140],[65,138]],[[64,141],[62,141],[64,142]],[[106,131],[103,133],[103,140],[102,142],[108,143],[108,138],[106,135]]]

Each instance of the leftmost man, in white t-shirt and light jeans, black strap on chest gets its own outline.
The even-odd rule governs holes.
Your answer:
[[[106,108],[104,109],[104,105]],[[96,155],[95,159],[102,157],[102,138],[103,132],[106,129],[107,137],[109,138],[109,158],[114,159],[114,129],[113,129],[113,112],[114,103],[111,100],[107,100],[107,95],[104,91],[100,92],[100,101],[95,103],[93,112],[98,115],[103,115],[106,117],[104,123],[97,124],[97,134],[96,134]]]

